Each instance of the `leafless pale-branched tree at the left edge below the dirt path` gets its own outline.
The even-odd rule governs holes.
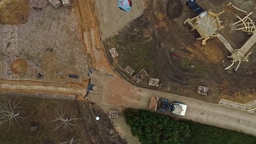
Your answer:
[[[14,122],[19,124],[17,119],[24,119],[20,117],[20,113],[18,112],[20,107],[20,101],[16,103],[13,98],[5,99],[4,103],[0,103],[0,125],[9,122],[10,130],[10,126],[14,127]]]

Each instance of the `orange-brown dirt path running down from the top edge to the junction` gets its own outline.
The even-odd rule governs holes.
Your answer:
[[[104,53],[101,33],[94,0],[74,1],[74,11],[79,21],[79,35],[84,45],[84,52],[91,58],[91,68],[119,76],[108,63]]]

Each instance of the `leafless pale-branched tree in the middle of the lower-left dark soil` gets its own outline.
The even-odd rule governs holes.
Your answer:
[[[75,115],[72,116],[72,114],[69,116],[69,118],[67,117],[67,113],[65,112],[65,110],[62,109],[61,106],[61,110],[55,110],[55,119],[53,122],[58,122],[55,127],[54,130],[59,129],[61,126],[63,126],[65,129],[69,128],[71,129],[71,126],[74,126],[75,124],[72,124],[71,122],[74,121],[75,119],[80,119],[80,118],[75,118]]]

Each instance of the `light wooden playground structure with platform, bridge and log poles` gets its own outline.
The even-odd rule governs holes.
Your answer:
[[[227,6],[230,5],[231,4]],[[232,5],[232,7],[236,8],[234,5]],[[254,25],[253,20],[249,18],[252,13],[241,9],[238,10],[246,13],[246,16],[243,19],[241,19],[239,16],[236,16],[239,19],[239,21],[233,24],[237,25],[238,27],[236,28],[236,31],[241,30],[247,34],[252,34],[251,38],[246,41],[241,49],[237,49],[236,45],[232,43],[228,36],[226,36],[225,33],[221,30],[223,26],[220,25],[221,21],[219,20],[219,15],[224,13],[224,11],[215,14],[211,10],[208,10],[194,17],[193,19],[187,19],[184,22],[184,24],[188,23],[193,28],[191,31],[196,29],[196,31],[201,35],[201,37],[197,38],[197,40],[202,39],[202,45],[205,45],[208,39],[214,37],[218,37],[218,39],[222,41],[226,49],[231,53],[231,56],[228,56],[228,58],[231,58],[230,62],[232,62],[232,64],[229,65],[229,67],[226,67],[225,70],[231,68],[235,62],[238,62],[238,65],[235,69],[235,71],[237,71],[237,69],[240,67],[241,61],[248,62],[249,55],[251,55],[252,51],[256,47],[256,26]]]

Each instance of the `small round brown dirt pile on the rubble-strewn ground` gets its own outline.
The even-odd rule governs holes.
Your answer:
[[[26,59],[20,58],[16,59],[13,63],[11,63],[11,71],[14,74],[24,74],[27,72],[27,61]]]

